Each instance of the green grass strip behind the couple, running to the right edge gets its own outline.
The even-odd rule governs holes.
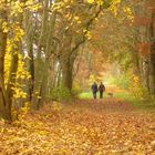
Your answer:
[[[92,92],[83,92],[79,96],[82,100],[93,99]],[[106,93],[104,93],[103,99],[110,97]],[[125,102],[130,102],[135,108],[142,110],[142,111],[152,111],[155,112],[155,101],[153,100],[144,100],[135,97],[130,92],[122,92],[122,93],[115,93],[114,97],[124,100]],[[99,93],[97,93],[99,99]]]

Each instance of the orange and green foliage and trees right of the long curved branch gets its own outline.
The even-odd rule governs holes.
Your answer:
[[[131,81],[127,85],[131,86],[134,86],[132,81],[136,78],[138,81],[136,86],[141,86],[143,93],[155,95],[155,2],[152,0],[122,1],[114,13],[105,11],[104,17],[99,19],[92,31],[92,38],[85,51],[94,51],[99,62],[95,63],[95,56],[91,56],[91,65],[100,64],[102,52],[105,71],[108,71],[107,64],[111,63],[113,76],[118,76],[120,80],[127,79]],[[95,75],[95,71],[100,69],[99,72],[104,71],[100,66],[93,70]],[[89,76],[92,70],[89,73],[87,71],[89,69],[85,74]]]

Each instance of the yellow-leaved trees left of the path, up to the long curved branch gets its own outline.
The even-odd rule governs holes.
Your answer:
[[[114,1],[115,2],[115,1]],[[0,115],[30,102],[33,110],[63,85],[69,93],[80,46],[112,0],[0,1]]]

